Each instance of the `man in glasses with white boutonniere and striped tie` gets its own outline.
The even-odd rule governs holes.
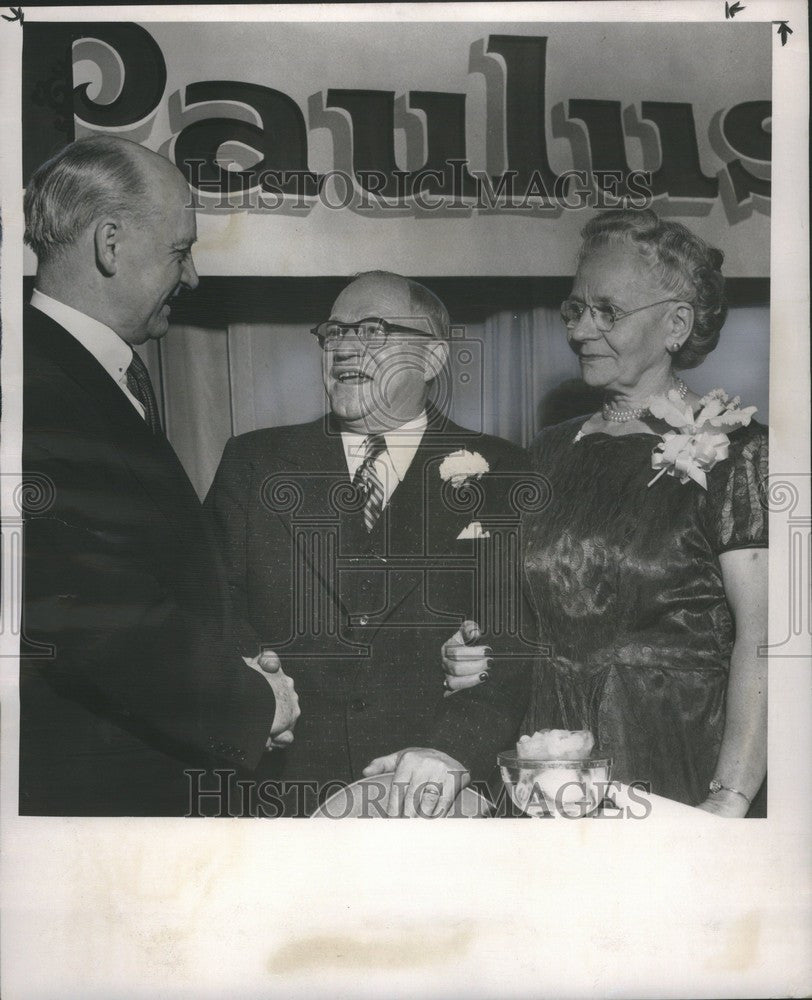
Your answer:
[[[313,330],[330,412],[233,438],[205,504],[239,616],[302,699],[295,743],[259,773],[326,792],[395,770],[390,814],[442,814],[489,774],[527,694],[529,649],[514,629],[487,684],[444,697],[441,648],[460,622],[497,625],[497,607],[497,633],[515,622],[521,587],[500,529],[515,534],[509,498],[525,466],[520,448],[428,404],[448,331],[427,288],[359,276]]]

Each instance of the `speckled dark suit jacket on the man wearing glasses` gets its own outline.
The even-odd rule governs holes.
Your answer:
[[[491,471],[455,491],[439,466],[460,448],[479,452]],[[294,744],[267,754],[260,773],[350,781],[372,758],[408,746],[443,750],[475,778],[491,771],[515,739],[529,683],[509,502],[525,468],[520,448],[430,411],[406,476],[367,534],[331,418],[229,441],[205,507],[236,615],[253,629],[248,642],[258,635],[278,652],[302,709]],[[474,520],[491,538],[458,540]],[[467,618],[487,628],[496,665],[485,684],[443,698],[440,647]]]

